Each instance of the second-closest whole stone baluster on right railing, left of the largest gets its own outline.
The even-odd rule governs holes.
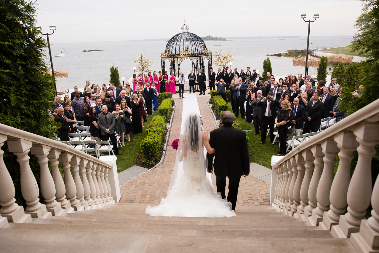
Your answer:
[[[355,135],[345,130],[340,135],[334,138],[337,142],[340,152],[340,163],[337,168],[332,186],[330,187],[330,209],[324,213],[323,225],[319,229],[330,230],[333,225],[337,225],[340,220],[340,215],[346,211],[348,205],[346,195],[350,182],[350,165],[351,160],[354,158],[353,151],[357,149],[358,142]]]

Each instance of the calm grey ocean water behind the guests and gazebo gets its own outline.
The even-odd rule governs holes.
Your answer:
[[[51,37],[51,36],[50,36]],[[52,41],[52,38],[50,38]],[[68,71],[67,78],[57,78],[57,89],[73,88],[78,86],[83,89],[86,80],[90,83],[103,84],[109,83],[111,66],[118,67],[120,80],[125,77],[129,80],[134,74],[133,67],[136,66],[132,62],[139,51],[147,52],[147,57],[152,58],[153,65],[151,72],[161,70],[160,54],[166,46],[166,41],[115,41],[115,42],[91,42],[91,43],[65,43],[61,46],[60,42],[52,42],[52,55],[55,53],[66,51],[66,57],[54,57],[53,66],[55,69]],[[224,52],[233,54],[232,68],[237,68],[238,72],[246,67],[263,71],[263,60],[267,58],[267,54],[282,53],[290,49],[306,49],[307,38],[257,38],[257,39],[231,39],[227,41],[205,41],[208,50],[214,52],[214,49],[222,49]],[[319,47],[338,47],[348,46],[351,44],[351,37],[311,37],[309,48],[315,49]],[[83,50],[98,49],[98,52],[82,52]],[[50,65],[49,53],[47,55],[47,64]],[[288,57],[272,57],[269,56],[273,74],[276,77],[284,77],[288,74],[304,74],[304,67],[294,67],[292,58]],[[207,64],[207,62],[205,62]],[[204,64],[206,66],[206,64]],[[166,70],[168,69],[166,64]],[[184,60],[180,64],[181,71],[188,73],[192,69],[192,62]],[[218,66],[213,64],[213,69],[217,72]],[[317,74],[317,68],[309,68],[312,76]],[[122,84],[122,81],[121,81]],[[82,87],[82,88],[81,88]]]

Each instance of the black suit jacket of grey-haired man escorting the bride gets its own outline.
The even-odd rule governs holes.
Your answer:
[[[249,153],[247,151],[246,133],[231,125],[225,125],[211,131],[209,144],[216,149],[208,156],[208,172],[215,169],[216,176],[242,176],[250,173]]]

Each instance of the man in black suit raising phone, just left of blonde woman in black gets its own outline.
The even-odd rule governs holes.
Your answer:
[[[258,103],[258,106],[262,106],[263,116],[263,130],[261,137],[261,145],[265,144],[266,141],[266,131],[267,126],[270,128],[270,140],[274,141],[274,127],[275,127],[275,118],[276,118],[276,108],[279,105],[279,101],[274,100],[271,96],[271,92],[267,94],[267,97],[263,97],[263,99]]]

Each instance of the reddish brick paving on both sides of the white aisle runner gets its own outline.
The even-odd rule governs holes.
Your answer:
[[[176,156],[176,150],[171,147],[171,142],[179,138],[180,135],[184,100],[179,99],[178,94],[173,97],[176,102],[176,109],[164,161],[159,167],[147,171],[122,185],[120,203],[159,204],[160,200],[166,197]],[[197,95],[204,130],[208,132],[208,135],[211,130],[216,128],[216,123],[207,103],[209,98],[208,94],[206,96]],[[216,176],[212,174],[211,177],[216,191]],[[269,205],[269,189],[270,187],[266,182],[252,174],[246,178],[242,177],[238,189],[237,203],[240,205]],[[236,206],[237,210],[238,204]]]

